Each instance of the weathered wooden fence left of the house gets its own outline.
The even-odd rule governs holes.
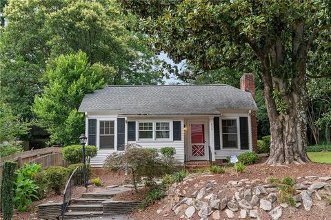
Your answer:
[[[62,159],[62,148],[52,147],[20,152],[0,158],[0,184],[2,182],[2,166],[4,161],[16,161],[19,167],[26,163],[41,163],[42,170],[50,168],[50,166],[66,166],[66,162]]]

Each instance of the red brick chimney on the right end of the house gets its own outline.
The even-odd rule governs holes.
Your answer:
[[[240,89],[250,92],[255,100],[255,79],[253,74],[243,74],[240,78]],[[257,117],[255,111],[252,111],[250,114],[250,123],[252,125],[252,147],[254,152],[257,152]]]

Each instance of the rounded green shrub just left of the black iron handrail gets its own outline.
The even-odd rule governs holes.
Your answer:
[[[45,170],[48,188],[55,191],[56,194],[61,194],[61,190],[66,185],[68,179],[68,171],[61,166],[52,166]]]

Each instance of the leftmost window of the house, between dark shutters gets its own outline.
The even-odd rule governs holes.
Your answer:
[[[114,121],[100,121],[100,149],[114,148]]]

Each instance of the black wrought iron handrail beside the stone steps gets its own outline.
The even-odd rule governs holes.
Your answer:
[[[77,168],[75,168],[70,175],[66,183],[66,188],[64,188],[63,191],[62,219],[64,217],[64,213],[70,205],[70,200],[77,187],[85,186],[86,192],[88,191],[88,183],[85,181],[85,179],[88,181],[88,165],[86,165],[86,169],[84,166],[77,166]]]

